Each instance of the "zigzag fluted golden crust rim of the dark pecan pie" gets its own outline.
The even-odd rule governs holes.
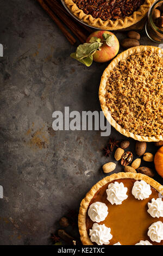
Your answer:
[[[89,26],[93,26],[99,29],[116,30],[130,27],[135,23],[139,22],[147,14],[149,7],[154,3],[155,0],[145,0],[145,3],[140,5],[140,8],[130,16],[126,16],[123,19],[117,19],[115,21],[106,20],[103,21],[101,18],[94,18],[91,14],[85,14],[82,9],[79,9],[72,0],[64,0],[66,6],[79,20],[87,23]]]

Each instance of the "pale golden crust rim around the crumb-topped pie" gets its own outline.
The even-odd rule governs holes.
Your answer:
[[[109,74],[109,71],[113,70],[114,67],[118,64],[118,62],[120,62],[120,60],[123,60],[123,59],[127,58],[131,54],[136,53],[136,52],[148,51],[148,50],[152,50],[153,52],[156,52],[158,54],[162,54],[162,56],[163,56],[163,50],[161,48],[155,47],[155,46],[143,46],[143,45],[141,45],[141,46],[135,46],[135,47],[129,48],[128,50],[118,54],[117,57],[112,60],[112,62],[104,70],[102,78],[101,78],[101,83],[100,83],[100,86],[99,86],[99,101],[101,103],[101,108],[102,108],[102,111],[105,115],[105,118],[109,121],[109,123],[118,132],[122,133],[126,137],[131,137],[131,138],[135,139],[136,141],[157,142],[157,141],[162,141],[163,140],[162,135],[152,136],[152,137],[141,136],[141,135],[135,135],[134,133],[126,131],[125,129],[123,129],[111,117],[111,115],[108,112],[108,107],[105,104],[105,92],[106,92],[105,86],[106,86],[106,81],[108,80],[107,76]]]

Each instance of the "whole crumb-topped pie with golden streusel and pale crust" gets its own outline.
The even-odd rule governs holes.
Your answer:
[[[105,69],[99,100],[115,129],[137,141],[163,139],[163,50],[137,46]]]

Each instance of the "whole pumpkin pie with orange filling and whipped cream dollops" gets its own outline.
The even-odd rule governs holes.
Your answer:
[[[106,176],[80,204],[83,245],[163,245],[162,196],[163,186],[146,175]]]

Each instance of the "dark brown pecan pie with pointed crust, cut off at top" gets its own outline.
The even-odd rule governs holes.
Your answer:
[[[121,29],[140,21],[154,0],[64,0],[71,13],[87,25]]]

